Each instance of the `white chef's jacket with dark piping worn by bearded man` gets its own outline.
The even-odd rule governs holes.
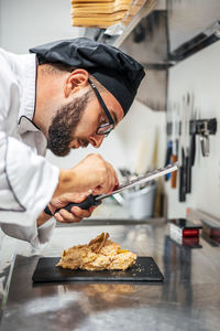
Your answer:
[[[59,170],[44,158],[46,139],[32,122],[36,97],[36,55],[0,49],[0,226],[35,247],[53,232],[51,218],[36,218],[51,201]]]

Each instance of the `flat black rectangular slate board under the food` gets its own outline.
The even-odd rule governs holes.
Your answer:
[[[138,257],[129,269],[122,270],[70,270],[56,267],[59,257],[41,257],[32,276],[34,282],[48,281],[163,281],[164,276],[152,257]]]

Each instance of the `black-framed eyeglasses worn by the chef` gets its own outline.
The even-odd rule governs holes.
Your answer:
[[[94,92],[96,93],[96,96],[97,96],[97,98],[98,98],[98,100],[99,100],[99,103],[100,103],[100,105],[101,105],[101,107],[102,107],[106,116],[108,117],[108,120],[109,120],[109,122],[100,125],[97,128],[96,134],[97,135],[103,135],[105,137],[107,137],[111,132],[111,130],[113,130],[113,128],[114,128],[113,118],[111,117],[111,114],[108,110],[108,108],[107,108],[107,106],[106,106],[106,104],[105,104],[105,102],[103,102],[100,93],[98,92],[96,85],[94,84],[94,82],[91,82],[90,78],[88,78],[88,82],[91,85],[91,87],[94,88]]]

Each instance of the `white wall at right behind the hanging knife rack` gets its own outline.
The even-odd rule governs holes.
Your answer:
[[[210,136],[210,156],[201,156],[197,138],[196,164],[193,168],[193,194],[186,203],[178,202],[177,190],[170,190],[168,211],[170,217],[185,216],[187,206],[202,210],[220,217],[220,42],[183,61],[169,72],[170,104],[180,104],[186,93],[195,96],[199,118],[217,117],[218,131]]]

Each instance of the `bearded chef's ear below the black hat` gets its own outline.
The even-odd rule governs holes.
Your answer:
[[[64,86],[65,97],[68,97],[72,93],[76,93],[81,87],[87,86],[89,74],[82,68],[77,68],[67,75]]]

